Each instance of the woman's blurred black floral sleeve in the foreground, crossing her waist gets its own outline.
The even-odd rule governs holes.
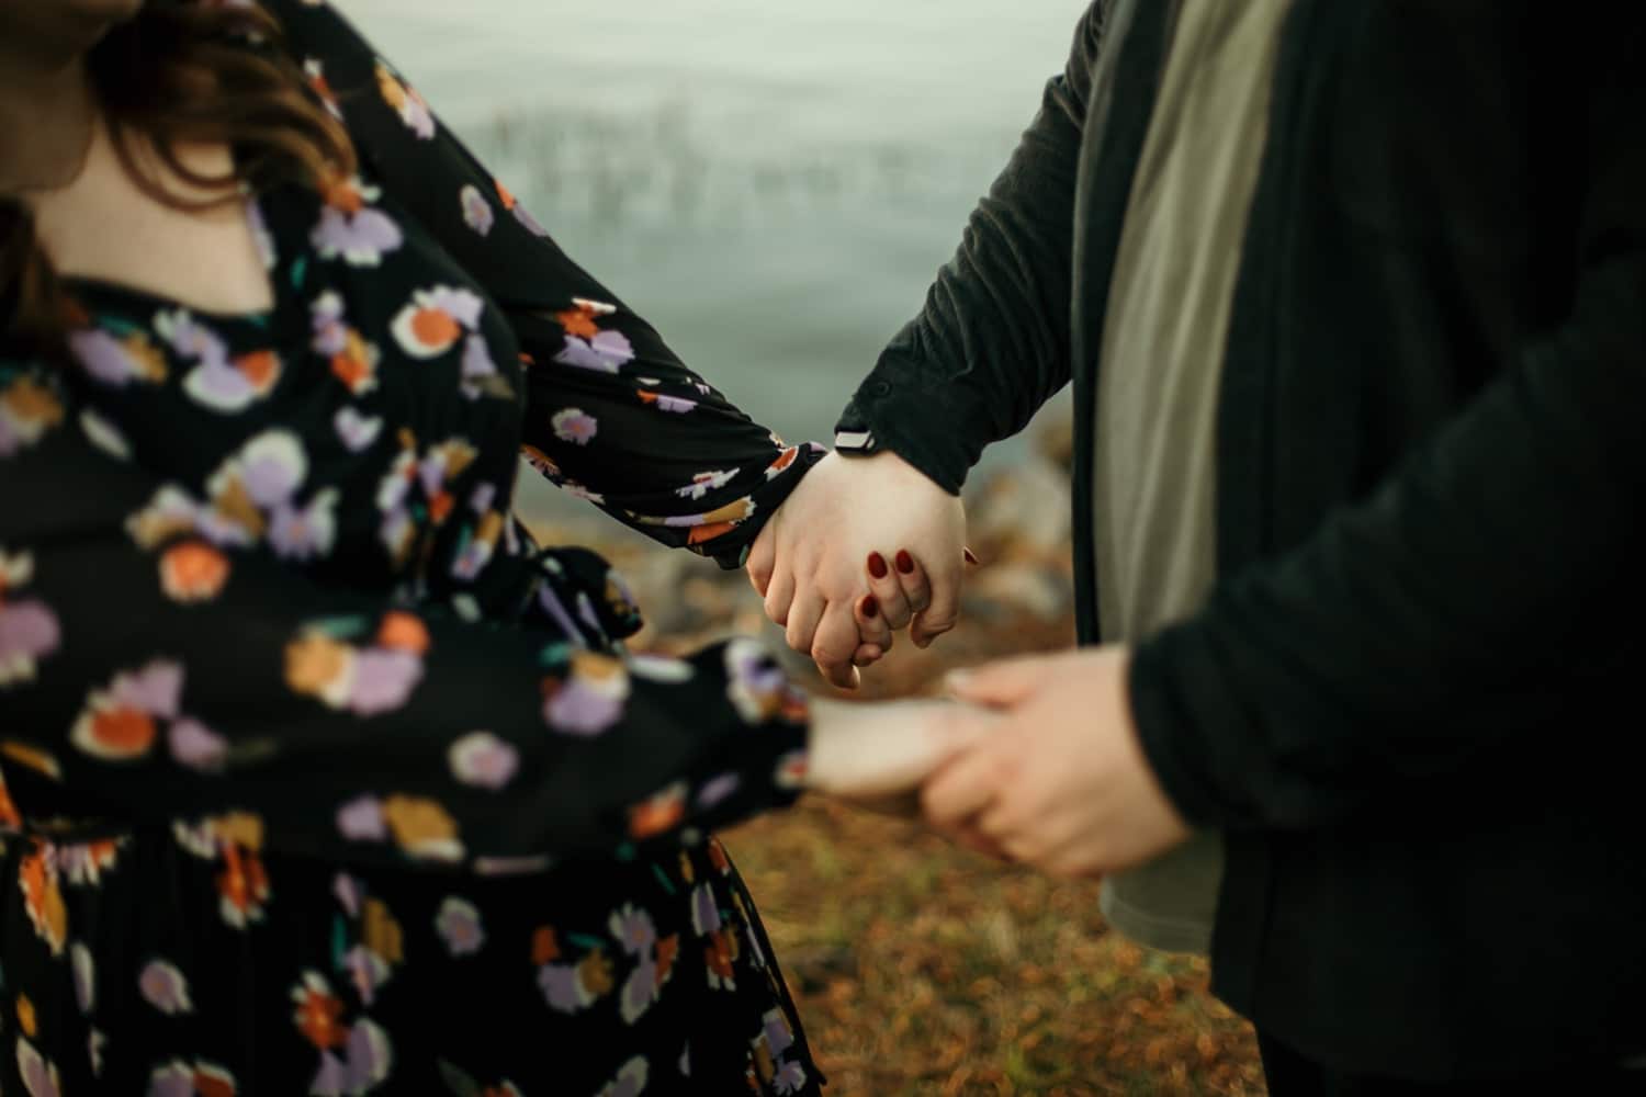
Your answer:
[[[759,645],[599,655],[324,586],[109,439],[61,372],[0,360],[0,824],[232,814],[487,872],[793,798],[805,706]]]

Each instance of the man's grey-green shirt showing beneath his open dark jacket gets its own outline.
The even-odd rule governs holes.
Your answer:
[[[1183,0],[1126,207],[1098,370],[1096,569],[1106,640],[1192,613],[1216,574],[1216,410],[1241,242],[1290,0]],[[1223,870],[1200,834],[1104,882],[1159,949],[1210,947]]]

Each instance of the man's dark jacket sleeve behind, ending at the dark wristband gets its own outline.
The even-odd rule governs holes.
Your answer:
[[[1027,426],[1070,380],[1075,181],[1109,7],[1098,0],[1081,18],[1068,66],[1045,86],[960,250],[836,428],[871,433],[876,449],[951,493],[988,444]]]

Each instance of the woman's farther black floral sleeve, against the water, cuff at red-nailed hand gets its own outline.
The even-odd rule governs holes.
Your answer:
[[[525,457],[619,521],[739,566],[823,449],[788,446],[686,368],[336,10],[270,8],[384,191],[509,317],[527,365]]]

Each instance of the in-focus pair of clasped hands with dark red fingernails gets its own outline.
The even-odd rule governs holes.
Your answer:
[[[828,454],[765,523],[749,581],[788,646],[851,689],[894,630],[925,646],[955,627],[965,531],[961,502],[897,454]]]

